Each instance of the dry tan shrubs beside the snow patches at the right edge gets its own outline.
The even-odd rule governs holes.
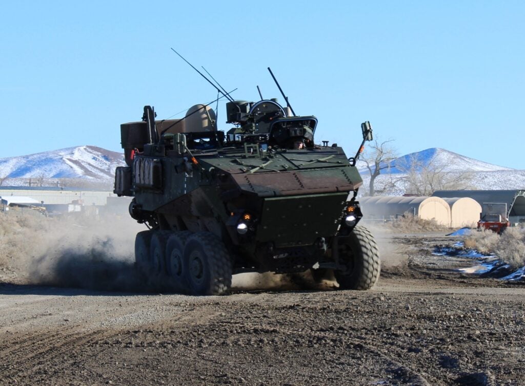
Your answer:
[[[491,230],[471,232],[464,243],[467,248],[497,255],[513,268],[525,265],[525,232],[521,228],[507,228],[501,235]]]

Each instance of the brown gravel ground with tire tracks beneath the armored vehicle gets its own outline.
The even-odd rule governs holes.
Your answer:
[[[443,242],[380,238],[366,292],[104,292],[4,267],[0,384],[525,384],[525,286],[458,273]]]

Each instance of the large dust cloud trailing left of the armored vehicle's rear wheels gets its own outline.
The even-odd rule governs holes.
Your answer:
[[[145,227],[124,216],[74,214],[45,218],[31,210],[1,213],[0,266],[8,267],[9,281],[144,291],[134,270],[134,238]]]

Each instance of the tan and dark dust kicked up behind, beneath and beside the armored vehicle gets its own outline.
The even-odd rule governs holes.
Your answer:
[[[379,246],[383,269],[406,267],[406,250],[392,242],[391,232],[384,227],[368,228]],[[151,283],[146,284],[134,269],[134,238],[144,229],[127,213],[45,218],[31,210],[0,212],[0,280],[98,291],[149,292]],[[337,288],[333,277],[316,279],[310,271],[287,275],[244,273],[233,276],[232,290]]]

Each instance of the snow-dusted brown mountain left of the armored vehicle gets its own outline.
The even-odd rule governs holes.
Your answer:
[[[18,157],[0,158],[0,178],[112,179],[124,165],[121,153],[96,146],[77,146]]]

